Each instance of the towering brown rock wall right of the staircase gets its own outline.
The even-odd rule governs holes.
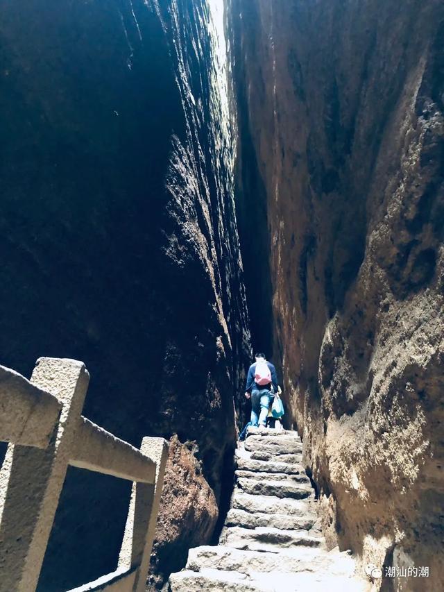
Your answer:
[[[253,146],[242,169],[266,194],[275,351],[328,539],[364,563],[429,566],[384,586],[435,590],[443,5],[231,0],[229,27],[238,153]]]

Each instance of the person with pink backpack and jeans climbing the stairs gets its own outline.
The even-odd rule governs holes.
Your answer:
[[[245,387],[246,398],[251,398],[251,425],[265,428],[268,408],[278,392],[278,376],[264,353],[255,355],[255,362],[248,369]]]

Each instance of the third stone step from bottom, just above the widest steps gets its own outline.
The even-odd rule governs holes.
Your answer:
[[[231,526],[223,529],[219,542],[236,549],[278,553],[282,549],[298,546],[321,547],[324,539],[321,536],[310,536],[307,530],[283,530],[262,526],[250,529]]]

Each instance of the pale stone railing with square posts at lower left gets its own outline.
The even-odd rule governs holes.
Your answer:
[[[33,592],[69,465],[133,481],[117,570],[77,592],[144,591],[168,446],[141,449],[81,415],[89,383],[82,362],[44,357],[31,380],[0,366],[0,591]]]

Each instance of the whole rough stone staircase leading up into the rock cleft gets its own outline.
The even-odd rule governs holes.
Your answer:
[[[366,592],[355,561],[327,551],[297,432],[250,428],[216,547],[191,549],[171,592]]]

